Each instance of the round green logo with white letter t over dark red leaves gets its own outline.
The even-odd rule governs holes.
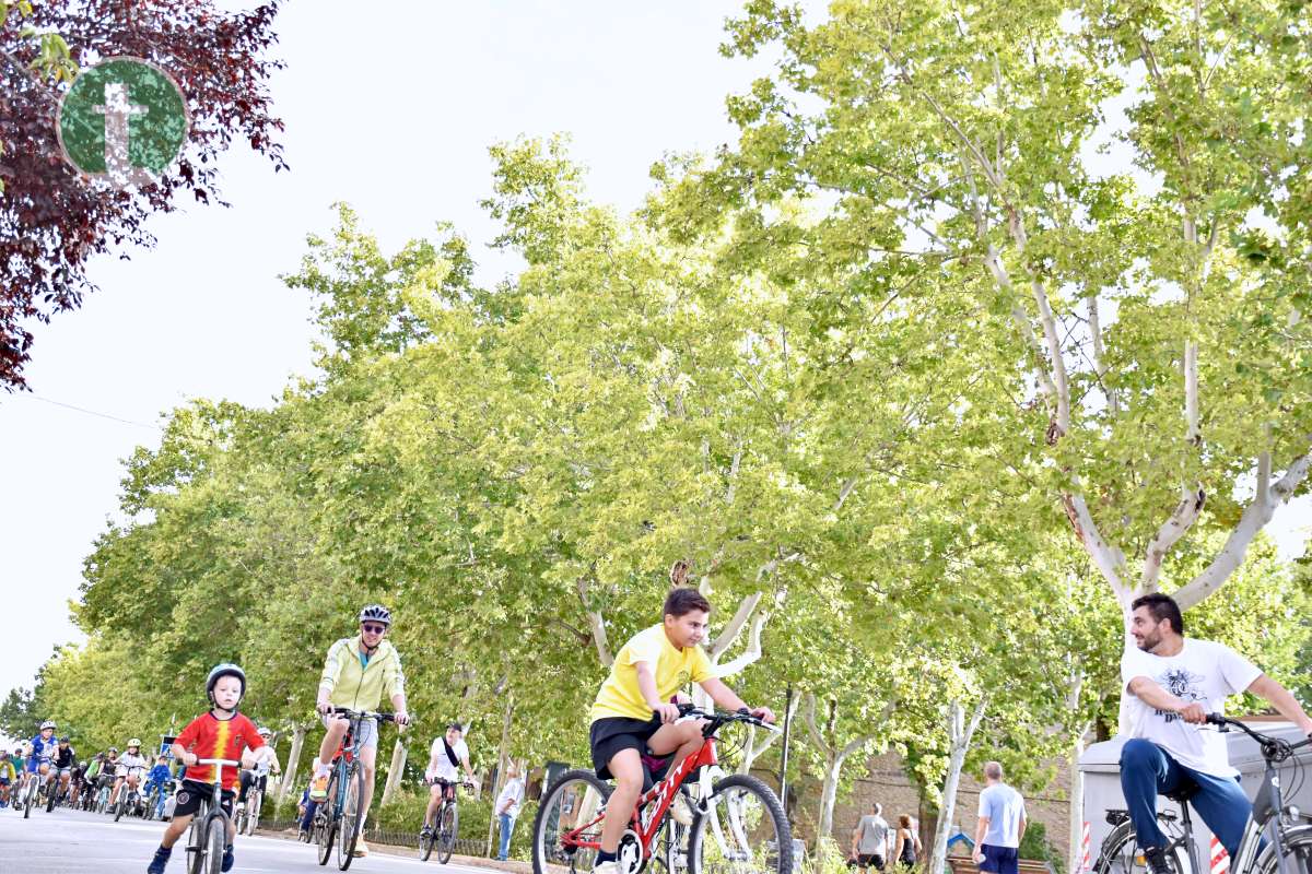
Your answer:
[[[79,73],[59,101],[64,159],[115,187],[151,185],[186,140],[182,89],[140,58],[109,58]]]

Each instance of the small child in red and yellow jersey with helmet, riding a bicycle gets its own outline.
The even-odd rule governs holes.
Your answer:
[[[173,742],[172,752],[176,759],[186,765],[182,785],[178,786],[173,819],[164,829],[155,857],[147,866],[148,874],[164,874],[169,856],[173,853],[173,844],[182,836],[182,832],[192,824],[192,818],[201,808],[201,801],[207,798],[214,784],[214,765],[197,764],[201,759],[240,760],[244,767],[253,767],[256,761],[266,761],[272,757],[273,750],[265,744],[264,738],[255,723],[244,714],[237,713],[237,705],[245,696],[245,672],[232,663],[216,664],[205,679],[205,697],[210,702],[210,709],[182,729]],[[249,747],[249,750],[247,750]],[[237,782],[236,768],[223,768],[222,772],[222,799],[220,805],[232,816],[234,788]],[[236,837],[236,824],[228,820],[228,840],[223,850],[223,862],[219,870],[232,870],[232,841]]]

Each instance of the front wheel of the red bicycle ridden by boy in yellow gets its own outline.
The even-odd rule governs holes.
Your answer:
[[[792,829],[774,790],[748,774],[715,784],[689,827],[689,874],[792,874]]]

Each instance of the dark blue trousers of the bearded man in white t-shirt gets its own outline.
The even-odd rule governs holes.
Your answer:
[[[1237,858],[1244,827],[1253,814],[1253,803],[1240,789],[1239,780],[1186,768],[1151,740],[1135,738],[1120,750],[1120,791],[1126,797],[1139,846],[1166,846],[1166,836],[1157,826],[1157,795],[1177,791],[1190,782],[1197,784],[1198,791],[1189,803],[1231,858]]]

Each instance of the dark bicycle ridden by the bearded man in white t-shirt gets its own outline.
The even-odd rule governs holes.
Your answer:
[[[1312,738],[1290,743],[1281,738],[1253,731],[1239,719],[1212,713],[1210,725],[1219,731],[1239,729],[1257,742],[1266,760],[1262,784],[1253,799],[1253,815],[1244,828],[1237,858],[1231,860],[1231,874],[1312,874],[1312,823],[1298,808],[1286,807],[1281,794],[1281,778],[1275,765],[1294,757],[1294,753],[1312,744]],[[1302,768],[1295,759],[1295,782],[1302,781]],[[1189,799],[1198,788],[1185,786],[1166,798],[1179,805],[1179,814],[1161,811],[1157,820],[1166,835],[1166,857],[1177,874],[1206,874],[1210,865],[1200,865],[1194,844],[1194,823],[1189,814]],[[1291,791],[1290,794],[1295,794]],[[1114,826],[1102,841],[1094,874],[1143,874],[1147,860],[1139,849],[1134,823],[1127,810],[1109,810],[1107,823]]]

